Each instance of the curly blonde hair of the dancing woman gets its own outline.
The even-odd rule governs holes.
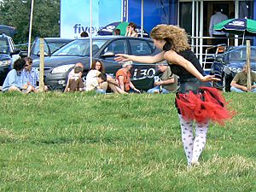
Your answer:
[[[171,44],[171,49],[180,52],[189,49],[188,34],[179,26],[160,24],[154,26],[150,32],[150,37],[156,40],[166,40]]]

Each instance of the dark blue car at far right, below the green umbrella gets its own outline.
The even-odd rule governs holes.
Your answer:
[[[211,73],[214,74],[221,82],[215,82],[214,85],[219,89],[230,91],[230,83],[236,73],[241,72],[242,67],[247,61],[246,46],[232,46],[226,49],[224,54],[217,55],[212,63]],[[251,46],[251,69],[256,73],[256,46]]]

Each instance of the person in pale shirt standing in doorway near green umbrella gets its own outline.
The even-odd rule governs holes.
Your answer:
[[[227,44],[227,35],[225,32],[216,32],[213,30],[214,25],[218,24],[219,22],[223,20],[227,20],[228,16],[221,13],[220,7],[216,7],[214,9],[214,15],[212,15],[210,20],[210,26],[209,26],[209,34],[211,37],[214,37],[212,39],[212,44]]]

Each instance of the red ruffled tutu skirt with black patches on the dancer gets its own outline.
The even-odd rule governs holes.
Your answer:
[[[224,96],[212,87],[200,87],[198,93],[177,93],[176,106],[184,119],[195,120],[199,123],[211,119],[224,125],[226,119],[232,118],[234,112],[225,106]]]

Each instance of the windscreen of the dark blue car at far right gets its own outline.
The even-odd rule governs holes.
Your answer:
[[[247,61],[247,49],[235,49],[230,51],[230,62]],[[256,49],[251,49],[251,62],[256,62]]]

